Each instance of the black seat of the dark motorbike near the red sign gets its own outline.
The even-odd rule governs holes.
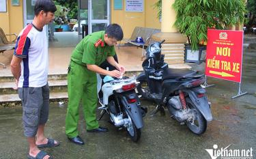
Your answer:
[[[180,78],[180,77],[186,77],[186,76],[193,76],[197,74],[197,72],[193,70],[182,70],[182,69],[173,69],[168,68],[165,70],[165,72],[162,74],[162,79],[170,79],[170,78]]]

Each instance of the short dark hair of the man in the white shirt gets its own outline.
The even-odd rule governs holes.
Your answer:
[[[35,2],[35,8],[33,10],[35,12],[35,16],[38,16],[41,10],[43,10],[46,13],[54,13],[57,10],[57,8],[52,0],[37,0]]]

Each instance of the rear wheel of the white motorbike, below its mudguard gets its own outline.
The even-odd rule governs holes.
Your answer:
[[[126,112],[126,115],[129,119],[128,126],[126,127],[126,131],[128,132],[128,135],[130,136],[130,139],[132,141],[137,142],[141,138],[141,129],[136,128],[134,125],[134,122],[130,118],[130,115]]]

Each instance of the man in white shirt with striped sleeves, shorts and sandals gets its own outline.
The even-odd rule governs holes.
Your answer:
[[[49,110],[48,39],[44,25],[55,18],[56,10],[52,0],[36,1],[33,22],[18,35],[11,62],[18,96],[23,104],[24,134],[29,143],[28,158],[48,159],[50,156],[38,148],[59,145],[58,141],[44,136]]]

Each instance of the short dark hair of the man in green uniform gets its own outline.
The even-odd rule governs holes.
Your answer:
[[[117,24],[111,24],[106,27],[105,33],[108,35],[109,38],[115,38],[117,41],[120,41],[124,38],[122,27]]]

